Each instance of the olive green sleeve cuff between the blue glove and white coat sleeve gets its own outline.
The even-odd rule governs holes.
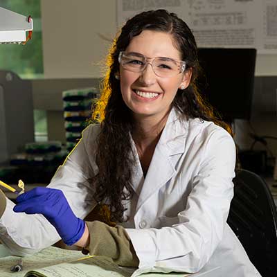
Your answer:
[[[125,267],[139,266],[139,258],[123,226],[111,227],[98,220],[86,223],[90,235],[86,249],[91,255],[109,257]]]

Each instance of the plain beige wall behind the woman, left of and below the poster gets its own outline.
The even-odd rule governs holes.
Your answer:
[[[99,78],[116,34],[115,0],[41,0],[46,78]],[[277,75],[277,55],[258,55],[256,75]]]

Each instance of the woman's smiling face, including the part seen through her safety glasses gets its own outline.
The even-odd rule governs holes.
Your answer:
[[[186,88],[190,83],[191,69],[184,72],[182,65],[186,62],[181,61],[181,53],[174,46],[174,37],[170,33],[143,30],[132,39],[126,52],[137,53],[136,56],[140,55],[141,60],[144,57],[145,62],[139,61],[139,71],[134,71],[134,66],[129,70],[130,66],[126,66],[124,58],[120,59],[119,55],[123,100],[134,117],[147,116],[147,124],[152,128],[155,123],[165,122],[178,89],[181,86]],[[149,59],[152,63],[146,62]],[[138,59],[134,61],[138,64]],[[157,129],[157,133],[161,129]]]

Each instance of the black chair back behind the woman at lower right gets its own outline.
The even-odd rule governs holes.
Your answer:
[[[238,170],[228,224],[262,277],[277,276],[277,212],[265,181]]]

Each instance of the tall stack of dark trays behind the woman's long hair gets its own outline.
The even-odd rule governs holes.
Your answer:
[[[71,151],[82,136],[82,130],[91,117],[91,104],[98,97],[99,91],[95,87],[62,92],[67,150]]]

